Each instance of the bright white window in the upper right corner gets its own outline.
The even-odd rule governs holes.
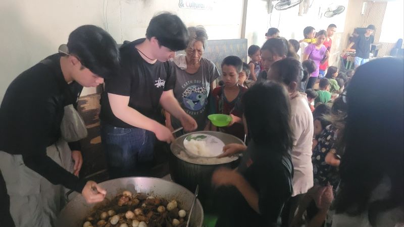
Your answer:
[[[395,43],[399,38],[404,38],[403,9],[404,1],[402,0],[387,3],[380,34],[381,42]]]

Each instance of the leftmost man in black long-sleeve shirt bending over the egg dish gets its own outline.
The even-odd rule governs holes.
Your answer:
[[[80,132],[82,122],[80,126],[80,121],[72,121],[78,116],[69,106],[77,103],[83,86],[95,87],[116,74],[118,47],[103,29],[84,25],[70,34],[67,48],[59,52],[20,74],[0,107],[0,170],[17,226],[53,225],[59,211],[55,209],[60,208],[60,188],[54,185],[81,192],[89,203],[102,201],[106,194],[95,182],[76,177],[81,154],[71,150],[79,146],[66,141],[85,135]],[[66,171],[72,155],[76,176]]]

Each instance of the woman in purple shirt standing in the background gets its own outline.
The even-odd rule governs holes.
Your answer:
[[[319,31],[316,34],[316,43],[312,43],[308,45],[302,54],[302,60],[312,60],[316,64],[316,71],[314,71],[310,75],[310,79],[307,82],[307,87],[306,89],[310,89],[313,87],[313,85],[316,83],[316,80],[319,76],[319,67],[321,64],[326,62],[329,57],[329,52],[327,50],[327,47],[323,45],[325,38],[326,38],[327,32],[324,30]]]

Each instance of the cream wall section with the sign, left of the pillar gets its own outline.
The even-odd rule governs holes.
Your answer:
[[[121,43],[144,37],[151,17],[169,11],[187,26],[204,25],[210,39],[240,38],[244,0],[212,2],[212,10],[194,10],[180,9],[179,0],[2,0],[0,101],[15,77],[57,52],[80,25],[100,26]]]

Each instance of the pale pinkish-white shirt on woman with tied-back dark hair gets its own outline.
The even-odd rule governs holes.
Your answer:
[[[291,120],[293,134],[292,163],[293,163],[293,194],[306,193],[313,187],[313,115],[306,94],[295,92],[290,95]]]

